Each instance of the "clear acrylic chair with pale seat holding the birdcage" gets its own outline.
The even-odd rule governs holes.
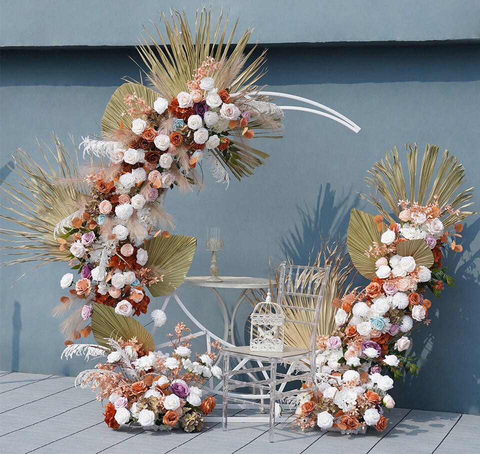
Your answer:
[[[269,415],[269,441],[273,442],[273,429],[275,425],[275,402],[293,394],[298,393],[298,389],[284,391],[285,384],[289,381],[304,380],[310,383],[310,386],[302,389],[302,392],[308,392],[315,387],[316,374],[316,337],[318,331],[318,319],[320,316],[320,307],[323,299],[325,285],[328,279],[330,266],[319,268],[314,266],[287,265],[284,261],[280,265],[280,278],[278,283],[277,302],[285,311],[287,318],[285,324],[304,324],[311,327],[309,348],[297,348],[285,345],[282,352],[274,351],[251,351],[248,345],[235,346],[223,349],[223,401],[222,401],[222,428],[227,429],[228,418],[228,400],[263,407],[262,402],[253,402],[238,397],[229,397],[228,391],[238,387],[252,386],[259,388],[260,391],[268,392],[262,395],[263,398],[270,400]],[[288,318],[288,315],[297,310],[304,310],[311,315],[305,317],[306,320],[296,320]],[[230,370],[230,356],[239,359],[249,359],[252,361],[268,362],[269,365],[252,367],[247,369]],[[279,363],[291,363],[294,360],[307,358],[309,370],[304,373],[292,375],[290,369],[287,373],[277,372]],[[234,375],[246,372],[262,372],[264,379],[257,381],[241,381],[234,379]],[[269,376],[268,376],[269,372]]]

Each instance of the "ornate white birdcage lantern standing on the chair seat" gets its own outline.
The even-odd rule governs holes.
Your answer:
[[[283,351],[285,314],[279,304],[272,302],[269,289],[265,301],[255,305],[250,320],[250,350]]]

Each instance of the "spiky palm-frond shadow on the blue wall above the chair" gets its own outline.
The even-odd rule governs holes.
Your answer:
[[[336,198],[336,200],[335,200]],[[316,255],[320,234],[338,235],[340,241],[346,238],[350,210],[358,202],[357,194],[351,189],[337,195],[330,183],[320,185],[316,204],[313,208],[297,205],[297,221],[294,227],[280,238],[280,249],[285,258],[294,264],[308,263],[310,255]]]

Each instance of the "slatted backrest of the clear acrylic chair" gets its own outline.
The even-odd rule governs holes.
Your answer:
[[[279,271],[277,303],[285,313],[285,324],[303,325],[297,327],[298,334],[309,335],[310,364],[313,369],[320,307],[330,265],[320,268],[286,264],[283,261]]]

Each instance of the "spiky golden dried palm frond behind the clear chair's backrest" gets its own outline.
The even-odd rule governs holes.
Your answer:
[[[308,265],[315,267],[331,266],[318,320],[318,335],[329,334],[335,328],[334,318],[337,310],[332,302],[335,298],[341,298],[349,291],[355,277],[355,269],[348,254],[345,252],[345,242],[330,241],[323,238],[321,238],[320,248],[316,256],[309,257]],[[269,278],[270,291],[272,300],[276,301],[276,288],[278,288],[280,270],[273,266],[272,271],[272,275]],[[299,280],[302,280],[302,276],[299,277]],[[254,294],[254,299],[251,302],[256,304],[259,301],[263,301],[265,296],[265,291],[261,290]],[[300,307],[314,308],[315,302],[315,299],[311,297],[288,296],[287,304],[299,308],[283,308],[283,311],[286,318],[299,321],[313,321],[314,312],[301,310]],[[310,329],[310,326],[306,324],[285,323],[285,343],[298,348],[309,348]]]

